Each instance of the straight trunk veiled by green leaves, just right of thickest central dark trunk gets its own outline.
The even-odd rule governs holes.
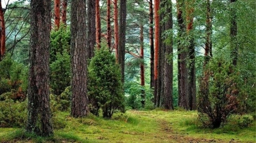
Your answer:
[[[184,0],[176,0],[178,42],[177,42],[177,65],[178,65],[178,106],[188,109],[188,69],[186,67],[187,49],[182,39],[186,36],[186,24],[183,18]]]

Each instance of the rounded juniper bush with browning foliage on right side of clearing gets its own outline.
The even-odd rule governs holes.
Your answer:
[[[220,127],[238,108],[238,75],[232,68],[223,59],[212,59],[199,80],[199,120],[205,127]]]

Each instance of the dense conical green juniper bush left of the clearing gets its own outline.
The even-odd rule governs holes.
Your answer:
[[[88,99],[93,114],[99,115],[102,108],[103,116],[111,118],[116,110],[124,111],[124,94],[119,65],[115,57],[102,44],[97,49],[88,67]]]

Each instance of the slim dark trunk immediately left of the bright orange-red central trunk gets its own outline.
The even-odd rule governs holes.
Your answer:
[[[154,87],[154,21],[153,0],[150,0],[150,88]]]

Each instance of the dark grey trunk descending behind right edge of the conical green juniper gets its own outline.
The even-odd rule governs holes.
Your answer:
[[[126,0],[119,2],[119,44],[118,63],[121,67],[122,82],[124,83],[124,56],[126,54]]]

